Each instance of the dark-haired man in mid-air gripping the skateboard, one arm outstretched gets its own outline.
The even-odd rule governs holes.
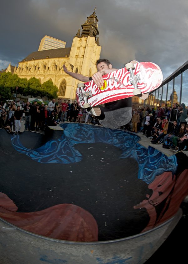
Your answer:
[[[97,73],[93,74],[92,77],[70,72],[67,70],[65,65],[63,65],[63,68],[67,74],[76,78],[77,80],[82,82],[93,80],[98,87],[101,87],[104,83],[102,75],[111,73],[117,69],[112,68],[112,64],[107,59],[97,60],[96,65],[98,71]],[[90,113],[97,116],[102,126],[116,129],[130,122],[132,118],[131,101],[131,98],[126,98],[97,107],[92,107]]]

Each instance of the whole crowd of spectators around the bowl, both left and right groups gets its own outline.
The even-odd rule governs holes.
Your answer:
[[[63,102],[62,102],[63,101]],[[188,150],[188,107],[185,104],[173,104],[173,107],[133,108],[132,120],[121,129],[142,132],[151,139],[151,143],[168,142],[174,151]],[[0,128],[10,134],[20,134],[21,122],[25,130],[43,131],[47,125],[56,126],[63,122],[79,122],[99,125],[98,119],[87,113],[76,101],[59,98],[48,104],[33,101],[8,101],[0,104]]]

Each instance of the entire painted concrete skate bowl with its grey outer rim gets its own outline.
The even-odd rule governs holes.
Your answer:
[[[61,127],[0,130],[1,263],[144,263],[181,217],[187,157],[123,130]]]

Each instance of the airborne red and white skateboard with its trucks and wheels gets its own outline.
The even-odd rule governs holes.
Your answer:
[[[78,84],[76,98],[81,107],[88,109],[132,96],[146,99],[163,81],[163,74],[158,65],[137,61],[127,63],[125,68],[102,77],[102,87],[98,87],[93,80]]]

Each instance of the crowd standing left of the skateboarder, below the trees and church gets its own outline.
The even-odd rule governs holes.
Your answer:
[[[10,134],[21,133],[21,122],[25,130],[43,131],[47,125],[56,126],[63,122],[79,122],[98,125],[98,119],[82,109],[76,101],[52,99],[48,104],[39,102],[22,102],[9,100],[0,103],[0,128]]]

